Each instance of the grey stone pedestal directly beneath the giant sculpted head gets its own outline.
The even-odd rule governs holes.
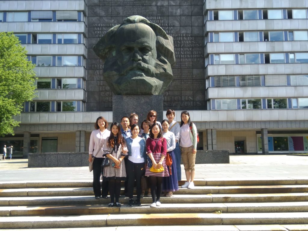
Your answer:
[[[135,112],[139,115],[139,126],[146,119],[148,111],[157,112],[156,121],[161,122],[163,115],[163,95],[114,95],[112,97],[112,121],[121,123],[123,116]]]

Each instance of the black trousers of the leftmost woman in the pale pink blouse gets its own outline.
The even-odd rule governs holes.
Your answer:
[[[108,195],[108,181],[104,179],[102,182],[102,189],[100,187],[100,174],[102,172],[103,158],[96,158],[93,161],[93,192],[95,197],[107,196]]]

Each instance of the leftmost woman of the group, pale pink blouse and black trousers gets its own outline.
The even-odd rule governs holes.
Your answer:
[[[103,162],[103,145],[110,136],[107,130],[108,122],[103,116],[99,116],[94,124],[95,130],[92,131],[89,142],[89,162],[93,161],[93,191],[95,199],[107,198],[108,181],[103,180],[102,189],[100,188],[100,175]]]

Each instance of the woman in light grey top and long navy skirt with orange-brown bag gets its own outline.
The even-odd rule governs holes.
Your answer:
[[[171,157],[172,161],[175,160],[175,156],[173,150],[175,148],[175,136],[173,132],[168,131],[169,121],[163,120],[161,122],[161,126],[163,127],[163,137],[167,141],[167,153]],[[169,176],[163,178],[163,192],[166,192],[166,197],[171,197],[172,192],[179,190],[179,183],[177,181],[177,173],[176,173],[176,163],[171,164],[171,166],[167,166],[169,171]]]

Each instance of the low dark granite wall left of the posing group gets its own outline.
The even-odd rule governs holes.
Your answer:
[[[88,166],[88,152],[29,153],[28,168]]]

